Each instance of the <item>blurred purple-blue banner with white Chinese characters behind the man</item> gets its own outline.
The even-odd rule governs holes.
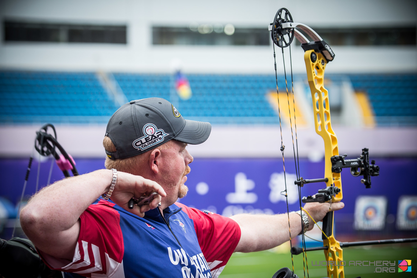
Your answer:
[[[365,189],[360,177],[353,177],[349,169],[342,171],[343,202],[345,207],[337,212],[337,219],[347,223],[343,229],[352,231],[354,204],[359,195],[384,195],[387,197],[387,214],[397,215],[397,202],[402,195],[417,195],[417,181],[410,174],[417,169],[415,158],[377,158],[381,168],[379,177],[372,177],[372,188]],[[80,174],[102,169],[104,159],[77,159]],[[294,185],[296,179],[294,159],[286,159],[286,185],[289,210],[299,210],[299,199]],[[0,196],[13,203],[20,198],[23,188],[28,159],[0,159],[3,171]],[[25,196],[35,192],[37,162],[32,165]],[[241,212],[248,213],[284,213],[285,189],[282,159],[201,159],[196,158],[190,164],[186,185],[189,192],[181,202],[201,210],[210,210],[224,215]],[[42,163],[39,187],[46,185],[50,161]],[[322,178],[324,162],[310,162],[300,159],[300,174],[304,179]],[[52,182],[62,179],[63,174],[54,165]],[[324,188],[325,183],[305,184],[301,197],[313,195]],[[74,192],[76,198],[77,192]],[[341,220],[341,221],[342,221]],[[341,228],[339,229],[341,230]]]

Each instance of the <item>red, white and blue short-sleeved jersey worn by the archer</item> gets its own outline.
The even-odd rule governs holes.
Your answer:
[[[240,240],[228,217],[175,203],[138,217],[96,200],[80,216],[72,262],[40,252],[65,277],[218,277]]]

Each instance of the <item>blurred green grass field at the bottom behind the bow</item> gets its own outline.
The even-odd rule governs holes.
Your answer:
[[[343,259],[347,261],[344,268],[346,278],[384,278],[384,277],[417,277],[417,267],[414,266],[414,272],[398,273],[398,260],[412,260],[412,265],[417,265],[417,246],[408,245],[409,247],[399,247],[398,245],[384,245],[362,248],[345,248],[343,250]],[[317,260],[325,260],[323,251],[311,251],[307,253],[309,260],[309,277],[321,278],[327,277],[325,266],[312,266]],[[375,273],[375,266],[349,266],[349,261],[393,261],[395,260],[395,273]],[[368,263],[366,263],[368,264]],[[234,253],[220,278],[271,278],[279,268],[291,266],[291,255],[289,253],[279,254],[271,251],[261,251],[254,253]],[[294,256],[294,269],[299,278],[304,277],[303,256],[302,254]],[[379,271],[379,269],[377,269]],[[306,273],[307,277],[307,273]]]

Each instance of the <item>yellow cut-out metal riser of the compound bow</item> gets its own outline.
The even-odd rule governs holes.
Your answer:
[[[339,149],[337,146],[337,136],[332,129],[329,94],[323,84],[327,60],[322,53],[311,49],[304,53],[304,61],[306,63],[311,99],[313,100],[314,125],[317,134],[322,136],[324,140],[324,177],[328,179],[326,182],[327,186],[336,186],[340,189],[337,195],[332,196],[332,202],[339,202],[343,197],[342,181],[340,179],[340,173],[332,172],[332,161],[330,159],[332,156],[339,155]],[[323,245],[329,246],[327,250],[324,250],[324,255],[328,262],[327,276],[344,278],[344,267],[341,265],[341,261],[343,261],[343,250],[340,247],[339,241],[334,238],[333,220],[333,212],[328,212],[323,219],[323,232],[326,234],[326,236],[323,235],[322,237]]]

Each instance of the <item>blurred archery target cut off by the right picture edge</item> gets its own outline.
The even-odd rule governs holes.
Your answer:
[[[417,230],[417,196],[401,196],[397,209],[398,230]]]

